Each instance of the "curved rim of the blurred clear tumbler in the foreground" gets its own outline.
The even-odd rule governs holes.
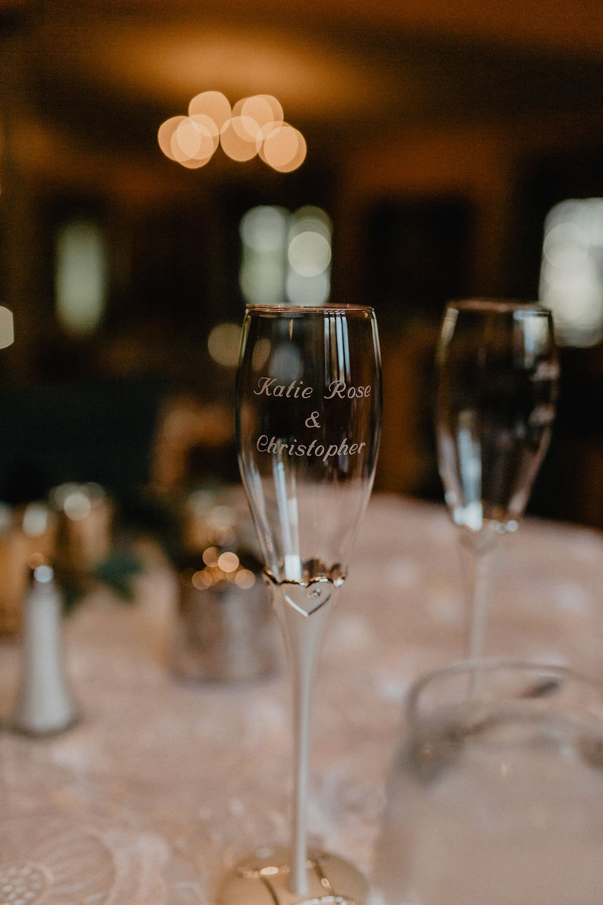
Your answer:
[[[588,687],[592,691],[597,691],[601,696],[603,703],[603,681],[600,681],[585,672],[579,672],[570,666],[564,666],[561,663],[532,662],[529,660],[513,660],[505,657],[491,657],[481,660],[461,660],[455,663],[449,663],[448,666],[426,672],[419,676],[411,686],[407,695],[406,712],[409,722],[416,724],[419,718],[419,699],[422,692],[429,688],[432,683],[437,683],[447,678],[453,678],[465,673],[466,675],[492,672],[517,672],[517,673],[540,673],[543,676],[558,678],[559,680],[569,680],[577,682],[579,685]],[[536,688],[536,686],[534,686]],[[528,696],[526,696],[528,697]],[[519,699],[518,699],[519,700]]]

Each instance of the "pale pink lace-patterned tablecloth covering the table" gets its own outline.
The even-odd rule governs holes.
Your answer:
[[[137,604],[90,595],[65,623],[82,719],[55,738],[0,738],[0,905],[212,902],[222,872],[287,839],[290,734],[282,670],[184,685],[169,666],[174,579],[157,564]],[[312,831],[371,867],[402,700],[462,653],[463,595],[445,510],[375,497],[321,663]],[[510,539],[487,653],[603,675],[603,537],[527,520]],[[16,643],[3,643],[9,718]]]

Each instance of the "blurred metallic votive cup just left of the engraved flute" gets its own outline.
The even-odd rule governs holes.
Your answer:
[[[276,635],[264,582],[249,569],[239,569],[239,583],[219,573],[217,566],[181,573],[174,670],[189,680],[265,676],[275,669]]]

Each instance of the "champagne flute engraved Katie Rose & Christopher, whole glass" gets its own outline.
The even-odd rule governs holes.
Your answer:
[[[371,308],[247,308],[236,391],[239,462],[286,643],[295,792],[290,851],[241,863],[222,886],[223,905],[260,901],[258,881],[269,885],[272,902],[365,895],[351,864],[308,858],[306,797],[318,655],[371,494],[381,411]]]

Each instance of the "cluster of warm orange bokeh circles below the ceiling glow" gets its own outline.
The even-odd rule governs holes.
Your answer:
[[[190,169],[209,163],[218,145],[232,160],[259,156],[278,173],[291,173],[306,158],[306,139],[285,122],[271,94],[243,98],[231,108],[221,91],[202,91],[188,105],[188,116],[161,124],[157,140],[166,157]]]

